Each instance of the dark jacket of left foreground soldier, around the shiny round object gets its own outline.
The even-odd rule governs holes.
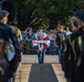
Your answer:
[[[19,46],[17,47],[18,40],[17,40],[17,37],[14,37],[14,34],[12,33],[12,30],[10,28],[9,25],[0,23],[0,31],[1,31],[0,34],[1,33],[3,34],[2,36],[0,36],[0,38],[3,38],[7,42],[9,42],[9,38],[10,38],[15,48],[15,55],[11,61],[9,61],[7,55],[4,56],[9,63],[9,67],[8,67],[8,70],[6,71],[6,73],[8,77],[11,77],[17,71],[18,62],[21,59],[21,56],[19,55],[20,54],[19,48],[18,48]],[[8,74],[8,73],[10,73],[10,74]]]

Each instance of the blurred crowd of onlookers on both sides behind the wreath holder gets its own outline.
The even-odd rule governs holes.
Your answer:
[[[24,55],[36,54],[32,45],[33,36],[36,32],[38,31],[33,31],[32,27],[28,27],[22,32],[22,50]],[[43,28],[43,32],[46,33],[50,38],[50,47],[46,49],[46,55],[60,54],[62,40],[72,34],[72,30],[70,30],[69,26],[65,27],[64,25],[59,25],[56,28],[50,31]]]

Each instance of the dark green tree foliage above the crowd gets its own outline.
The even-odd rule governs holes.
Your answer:
[[[40,25],[54,28],[59,23],[70,24],[70,16],[84,8],[84,0],[17,0],[17,7],[22,30]]]

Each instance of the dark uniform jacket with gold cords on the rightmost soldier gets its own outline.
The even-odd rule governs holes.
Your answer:
[[[84,34],[72,42],[71,82],[84,82]],[[73,69],[73,70],[72,70]]]

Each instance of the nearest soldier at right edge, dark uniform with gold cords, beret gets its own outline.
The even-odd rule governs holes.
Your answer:
[[[70,71],[71,71],[71,82],[84,82],[84,11],[80,12],[77,15],[78,23],[78,36],[72,42],[72,52],[70,55]]]

